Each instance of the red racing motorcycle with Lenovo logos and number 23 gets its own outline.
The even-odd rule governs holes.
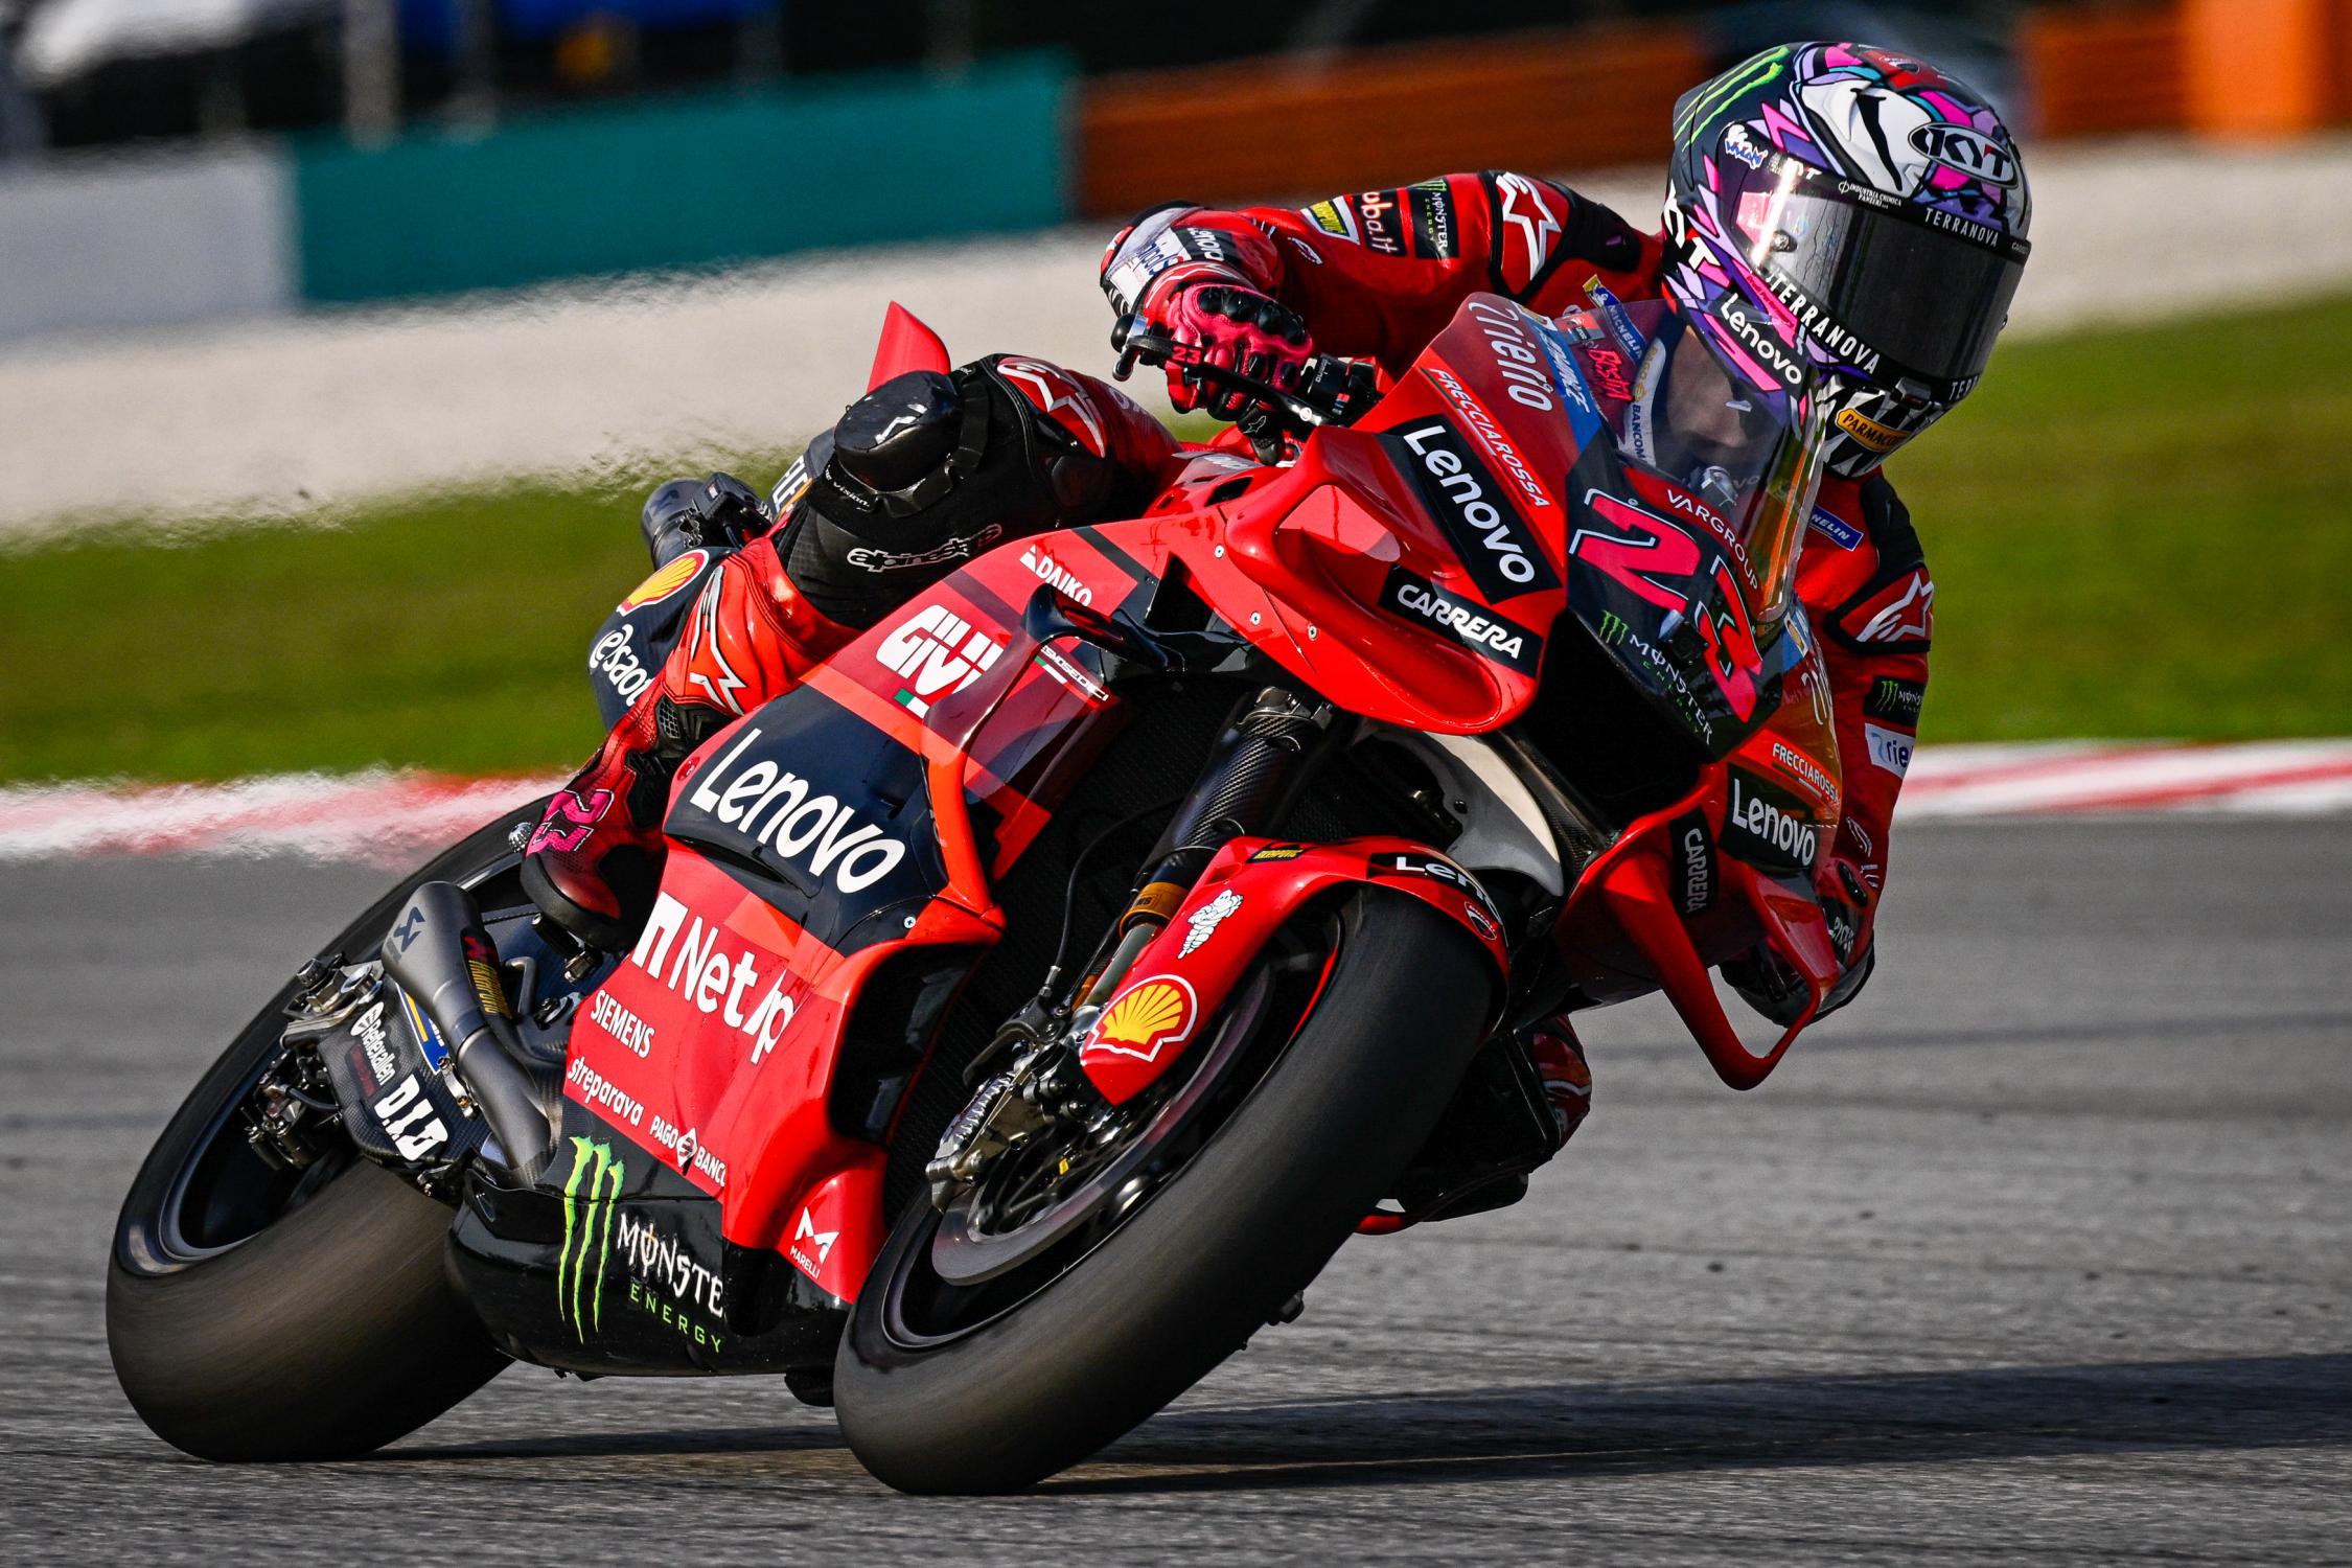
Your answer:
[[[875,378],[946,364],[894,313]],[[532,806],[306,964],[125,1201],[146,1422],[329,1458],[510,1359],[783,1373],[891,1486],[1021,1488],[1350,1234],[1519,1199],[1515,1027],[1663,990],[1762,1081],[1839,973],[1811,400],[1712,317],[1498,296],[1381,395],[1244,386],[1261,451],[971,559],[708,741],[628,952],[534,919]],[[1769,1048],[1708,978],[1759,947],[1809,992]]]

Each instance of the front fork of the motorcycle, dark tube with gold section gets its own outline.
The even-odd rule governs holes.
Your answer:
[[[971,1065],[969,1077],[1011,1058],[981,1081],[948,1124],[924,1168],[931,1201],[946,1208],[978,1171],[1051,1119],[1105,1119],[1112,1107],[1080,1067],[1075,1041],[1117,992],[1136,957],[1157,938],[1185,893],[1228,842],[1263,835],[1312,778],[1334,738],[1338,710],[1284,686],[1265,686],[1235,705],[1192,788],[1160,842],[1143,858],[1127,910],[1110,924],[1075,985],[1058,961],[1037,997],[1021,1009]]]

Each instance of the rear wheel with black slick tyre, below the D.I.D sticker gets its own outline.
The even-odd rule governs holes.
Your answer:
[[[482,827],[355,919],[362,957],[407,889],[513,865]],[[536,811],[529,811],[536,818]],[[242,1107],[280,1056],[292,985],[198,1081],[132,1180],[106,1272],[106,1347],[139,1418],[207,1460],[332,1460],[379,1448],[503,1366],[442,1269],[449,1208],[348,1143],[301,1171],[261,1159]]]

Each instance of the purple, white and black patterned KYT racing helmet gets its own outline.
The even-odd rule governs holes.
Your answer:
[[[1823,463],[1846,477],[1976,390],[2030,216],[1992,106],[1905,54],[1778,45],[1675,103],[1668,294],[1802,348]]]

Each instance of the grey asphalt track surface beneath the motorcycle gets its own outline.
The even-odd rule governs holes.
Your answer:
[[[2352,1561],[2352,832],[1917,825],[1872,992],[1762,1091],[1672,1016],[1510,1211],[1355,1241],[1035,1495],[906,1500],[776,1380],[513,1368],[223,1469],[108,1371],[115,1204],[381,884],[0,867],[0,1561]]]

